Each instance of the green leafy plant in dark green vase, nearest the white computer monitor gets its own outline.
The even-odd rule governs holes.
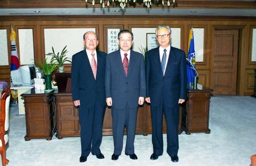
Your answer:
[[[47,58],[45,59],[45,64],[41,63],[40,61],[37,62],[37,65],[44,71],[45,73],[45,90],[51,90],[51,74],[56,69],[57,64],[54,63],[53,57],[50,59],[48,63]]]

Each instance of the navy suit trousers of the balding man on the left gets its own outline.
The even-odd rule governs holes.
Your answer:
[[[90,152],[100,154],[102,142],[102,125],[106,107],[96,104],[93,108],[79,108],[81,131],[81,156],[87,157]]]

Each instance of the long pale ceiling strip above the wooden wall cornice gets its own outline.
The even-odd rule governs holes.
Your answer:
[[[176,9],[176,8],[40,8],[0,9],[0,15],[189,15],[256,16],[256,9]]]

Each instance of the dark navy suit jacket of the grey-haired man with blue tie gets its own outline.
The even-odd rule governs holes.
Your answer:
[[[147,97],[150,105],[158,107],[163,101],[167,107],[178,105],[179,98],[186,99],[187,69],[185,52],[171,47],[165,70],[161,68],[159,47],[146,53]]]

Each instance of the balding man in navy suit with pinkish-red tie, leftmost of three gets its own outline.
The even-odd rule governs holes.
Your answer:
[[[104,82],[107,54],[96,51],[99,40],[94,32],[86,32],[83,38],[86,49],[72,56],[71,68],[73,102],[79,106],[80,162],[85,162],[90,152],[97,158],[104,158],[100,146],[106,109]]]

